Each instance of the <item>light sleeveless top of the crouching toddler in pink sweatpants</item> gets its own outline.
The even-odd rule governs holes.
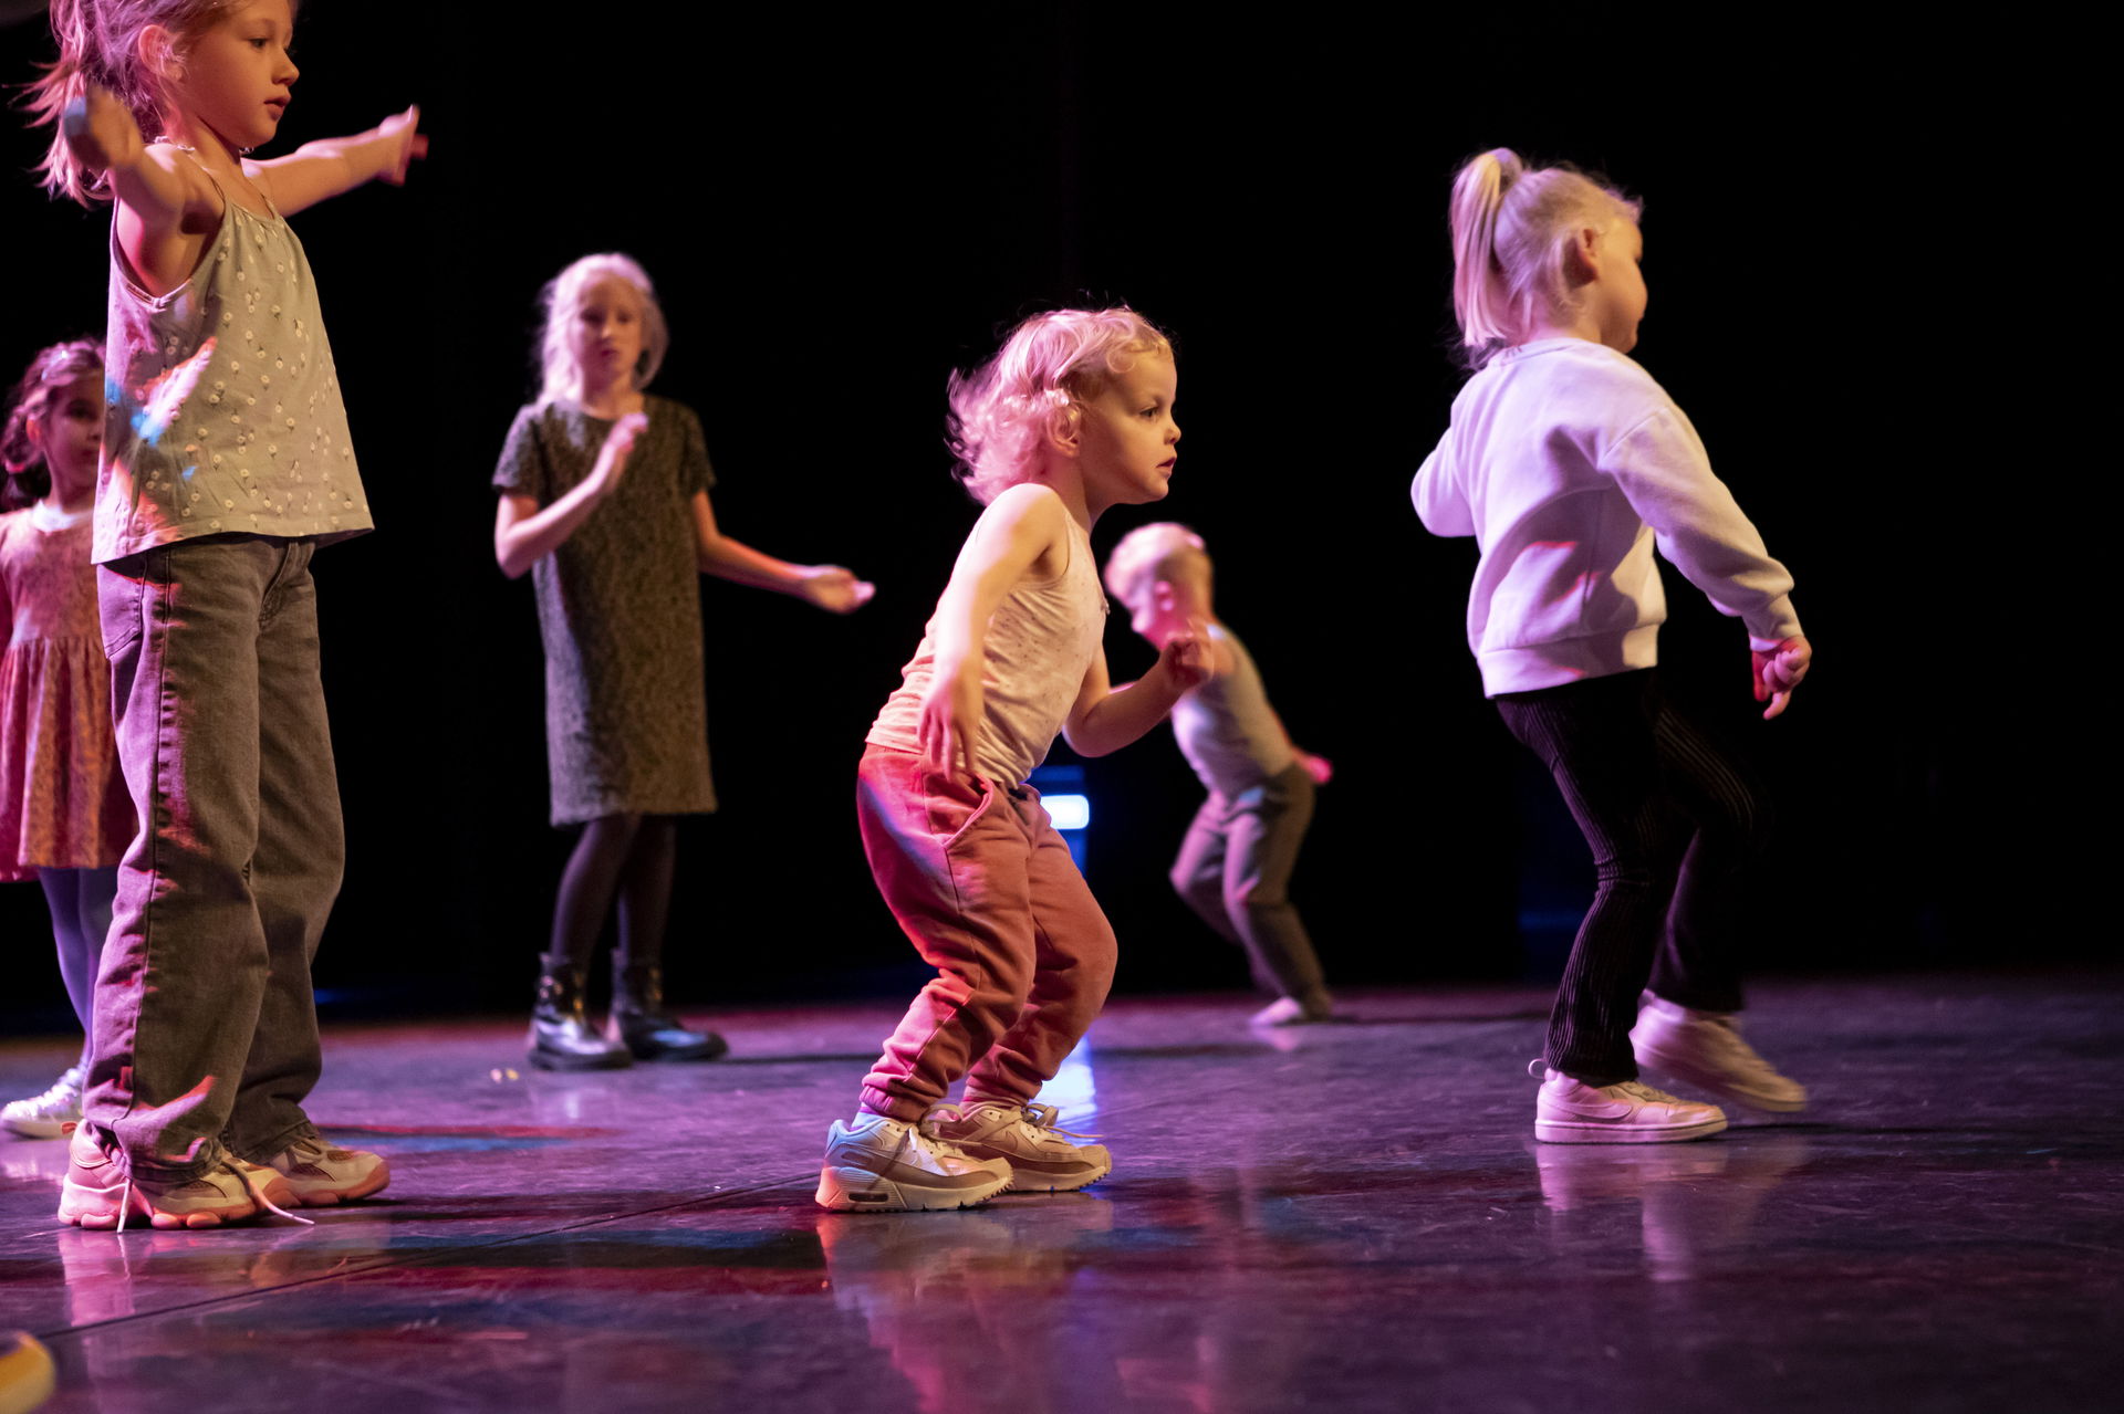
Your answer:
[[[1075,516],[1068,565],[1045,584],[1015,586],[988,618],[981,637],[981,737],[975,762],[992,786],[1022,786],[1047,760],[1047,747],[1077,703],[1083,675],[1107,637],[1107,594],[1098,588],[1092,537]],[[920,752],[922,696],[937,667],[937,616],[901,669],[898,690],[871,724],[871,745]]]

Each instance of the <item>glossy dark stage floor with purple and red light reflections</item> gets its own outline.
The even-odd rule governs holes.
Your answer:
[[[62,1144],[0,1140],[0,1329],[110,1414],[2116,1408],[2124,975],[1763,985],[1814,1108],[1629,1149],[1534,1142],[1540,994],[1351,1002],[1117,1002],[1054,1096],[1113,1178],[898,1217],[811,1204],[886,1006],[582,1079],[342,1028],[312,1113],[387,1202],[74,1231]]]

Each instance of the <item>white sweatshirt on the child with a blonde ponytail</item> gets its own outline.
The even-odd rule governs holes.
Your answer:
[[[1453,399],[1410,488],[1432,535],[1474,535],[1468,645],[1483,692],[1652,667],[1652,546],[1769,652],[1799,633],[1793,575],[1712,476],[1697,429],[1633,359],[1587,340],[1500,352]]]

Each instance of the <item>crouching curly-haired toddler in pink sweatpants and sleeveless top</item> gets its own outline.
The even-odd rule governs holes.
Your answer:
[[[1126,308],[1037,314],[952,380],[960,476],[986,510],[856,777],[871,875],[937,979],[864,1076],[854,1123],[826,1132],[820,1206],[964,1208],[1113,1166],[1037,1104],[1107,1000],[1115,941],[1026,779],[1058,730],[1104,756],[1209,675],[1200,641],[1175,635],[1115,690],[1100,645],[1092,524],[1164,499],[1177,391],[1172,344]],[[960,1076],[964,1104],[945,1106]]]

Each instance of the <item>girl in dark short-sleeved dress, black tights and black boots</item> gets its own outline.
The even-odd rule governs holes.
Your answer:
[[[554,900],[531,1013],[531,1064],[597,1070],[714,1059],[724,1040],[663,1006],[678,817],[716,809],[699,575],[833,614],[871,597],[839,565],[788,565],[716,524],[701,420],[644,393],[669,335],[624,255],[586,255],[546,287],[539,401],[516,414],[495,486],[495,558],[531,571],[546,645],[552,824],[582,826]],[[590,951],[618,898],[607,1034],[584,1011]]]

